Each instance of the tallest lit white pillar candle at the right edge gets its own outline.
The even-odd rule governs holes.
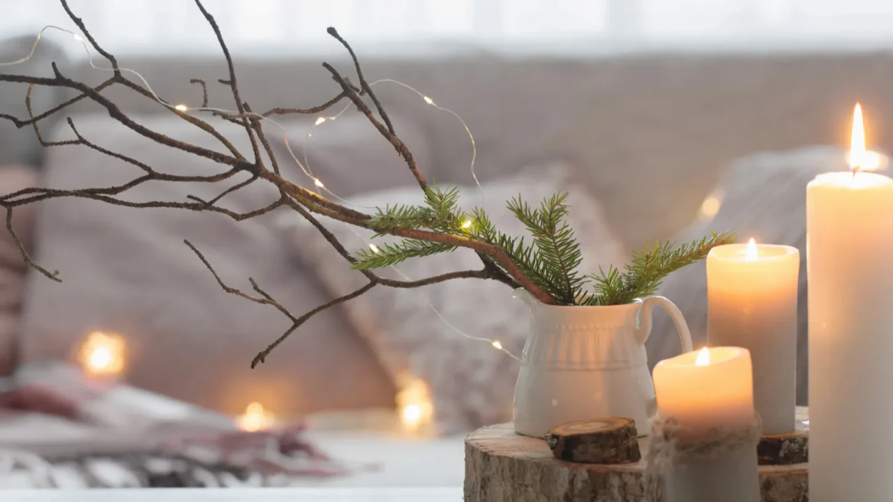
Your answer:
[[[854,115],[852,172],[806,188],[813,502],[893,498],[893,180],[862,172]]]

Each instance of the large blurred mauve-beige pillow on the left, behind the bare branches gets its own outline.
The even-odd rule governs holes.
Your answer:
[[[173,138],[222,151],[215,139],[184,121],[168,116],[134,120]],[[158,146],[107,116],[76,116],[74,121],[84,137],[162,172],[222,170],[195,155]],[[215,125],[250,155],[244,130],[222,121]],[[306,131],[308,125],[293,127]],[[404,129],[412,128],[404,124]],[[366,135],[359,130],[346,135],[341,144],[317,145],[314,172],[328,180],[325,174],[336,169],[357,169],[323,164],[327,149],[339,158],[362,155],[367,163],[363,168],[370,171],[396,163],[393,147],[371,126],[368,130]],[[54,137],[70,138],[71,132],[62,128]],[[383,147],[370,148],[373,143]],[[414,147],[425,162],[423,145]],[[352,148],[360,151],[351,154]],[[55,147],[49,154],[46,185],[52,188],[108,186],[139,173],[134,166],[84,146]],[[278,154],[282,154],[284,172],[307,184],[287,155],[281,150]],[[400,175],[406,177],[405,172]],[[225,187],[146,183],[127,198],[185,201],[195,195],[209,199]],[[261,182],[228,195],[221,205],[248,211],[276,197],[275,188]],[[23,327],[25,359],[68,358],[88,331],[110,330],[121,333],[131,350],[130,383],[225,413],[240,413],[251,401],[260,401],[280,415],[393,406],[392,382],[338,309],[307,323],[266,364],[249,368],[255,354],[288,328],[288,319],[268,306],[225,293],[183,239],[203,250],[230,285],[250,290],[248,278],[254,277],[283,305],[302,314],[324,302],[328,292],[313,273],[296,266],[271,227],[273,216],[235,222],[217,213],[130,209],[71,198],[49,201],[40,213],[37,257],[47,268],[61,271],[63,282],[30,276]]]

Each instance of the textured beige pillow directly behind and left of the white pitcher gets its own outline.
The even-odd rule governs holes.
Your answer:
[[[598,265],[621,264],[625,254],[602,218],[597,201],[582,189],[562,164],[537,166],[502,180],[483,185],[487,210],[498,228],[512,235],[525,235],[522,223],[505,209],[505,201],[522,194],[538,204],[560,190],[570,190],[570,224],[583,249],[583,272]],[[462,188],[466,208],[480,205],[477,188]],[[419,188],[403,188],[353,199],[360,206],[421,204]],[[294,215],[283,217],[290,229],[292,246],[330,290],[331,297],[344,295],[365,282],[360,272],[348,268],[313,227]],[[326,226],[351,250],[366,246],[355,230],[337,222]],[[368,237],[369,232],[360,232]],[[382,242],[393,239],[379,238]],[[413,280],[442,272],[480,268],[479,258],[467,249],[413,259],[397,268]],[[397,278],[392,271],[382,275]],[[430,302],[430,303],[429,303]],[[432,310],[435,306],[440,314]],[[527,336],[529,313],[512,291],[492,280],[451,280],[424,289],[374,288],[345,304],[345,313],[380,357],[392,378],[410,374],[427,382],[439,431],[468,431],[512,417],[514,382],[518,364],[486,341],[466,339],[450,325],[471,337],[497,339],[520,356]]]

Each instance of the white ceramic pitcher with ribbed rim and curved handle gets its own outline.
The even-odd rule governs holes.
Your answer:
[[[639,434],[647,434],[656,411],[645,352],[651,309],[660,305],[670,314],[682,350],[689,352],[689,326],[679,308],[664,297],[606,306],[546,305],[524,289],[514,297],[530,306],[530,335],[514,391],[514,430],[542,438],[560,423],[624,416],[636,421]]]

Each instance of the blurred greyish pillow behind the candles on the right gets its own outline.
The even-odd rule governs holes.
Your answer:
[[[722,200],[714,217],[705,217],[680,232],[675,240],[700,238],[710,230],[736,231],[739,240],[797,247],[800,251],[800,278],[797,308],[797,402],[807,400],[807,316],[806,316],[806,184],[820,172],[847,169],[844,154],[837,149],[810,147],[798,150],[751,155],[734,163],[714,196]],[[672,273],[659,294],[680,307],[691,329],[695,347],[706,344],[707,277],[705,264],[695,264]],[[654,334],[648,339],[648,362],[679,353],[679,341],[672,336],[672,322],[665,314],[655,314]]]

